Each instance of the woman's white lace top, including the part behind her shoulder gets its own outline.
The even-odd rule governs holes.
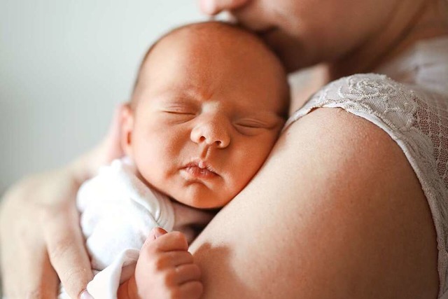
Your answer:
[[[339,107],[397,142],[418,177],[437,230],[439,298],[448,298],[448,36],[422,41],[377,69],[326,85],[286,126],[318,107]],[[382,74],[382,75],[380,75]]]

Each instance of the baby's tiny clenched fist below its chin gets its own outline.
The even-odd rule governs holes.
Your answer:
[[[200,276],[186,237],[155,228],[141,247],[134,276],[120,286],[118,298],[197,299],[202,295]],[[120,295],[123,288],[125,296]]]

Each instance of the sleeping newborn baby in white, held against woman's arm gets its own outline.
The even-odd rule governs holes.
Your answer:
[[[95,274],[87,291],[96,299],[198,298],[187,241],[211,219],[203,211],[223,207],[258,172],[288,102],[279,60],[234,25],[186,25],[157,41],[124,113],[127,158],[78,193]],[[155,227],[168,233],[148,238]]]

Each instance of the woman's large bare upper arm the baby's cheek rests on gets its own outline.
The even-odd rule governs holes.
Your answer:
[[[191,250],[204,298],[436,298],[426,199],[388,135],[341,109],[291,125]]]

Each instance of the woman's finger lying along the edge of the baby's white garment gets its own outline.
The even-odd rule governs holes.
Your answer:
[[[43,212],[42,223],[50,262],[66,293],[71,298],[79,298],[93,274],[78,224],[78,212],[75,207],[53,212],[47,209]]]

